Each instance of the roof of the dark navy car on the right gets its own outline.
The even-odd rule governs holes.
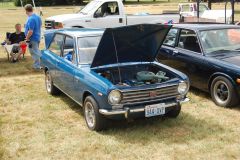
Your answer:
[[[240,26],[237,25],[231,25],[231,24],[191,24],[191,23],[184,23],[184,24],[174,24],[173,27],[176,28],[184,28],[184,29],[191,29],[195,31],[201,31],[201,30],[212,30],[212,29],[226,29],[226,28],[238,28],[240,29]]]

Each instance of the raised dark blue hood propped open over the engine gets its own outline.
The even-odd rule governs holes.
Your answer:
[[[153,62],[171,26],[141,24],[106,29],[91,67]]]

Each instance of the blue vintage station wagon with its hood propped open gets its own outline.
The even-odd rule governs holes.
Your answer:
[[[41,63],[46,90],[83,107],[90,130],[110,119],[177,117],[188,77],[155,61],[170,26],[62,29],[45,33]]]

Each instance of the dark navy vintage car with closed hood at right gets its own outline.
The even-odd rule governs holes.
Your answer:
[[[217,105],[230,107],[239,104],[239,26],[174,25],[162,45],[158,60],[187,74],[191,86],[210,92]]]

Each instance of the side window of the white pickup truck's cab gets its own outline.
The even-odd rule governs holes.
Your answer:
[[[95,12],[97,17],[106,17],[111,15],[119,15],[119,7],[117,2],[106,2]]]

